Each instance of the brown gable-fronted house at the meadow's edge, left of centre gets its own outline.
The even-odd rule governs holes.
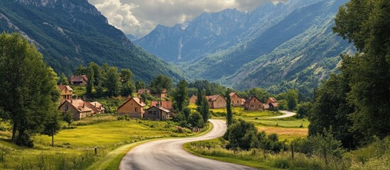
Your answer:
[[[119,115],[129,115],[130,118],[143,118],[143,107],[146,104],[140,98],[131,97],[118,108]]]

